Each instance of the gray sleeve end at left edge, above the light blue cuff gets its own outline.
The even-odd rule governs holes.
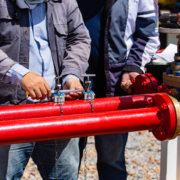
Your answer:
[[[15,61],[13,61],[11,58],[7,56],[6,53],[4,53],[0,49],[0,82],[4,79],[5,74],[11,69],[13,65],[17,64]]]

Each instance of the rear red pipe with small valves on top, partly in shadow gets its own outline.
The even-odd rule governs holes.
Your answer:
[[[97,98],[93,101],[94,112],[144,108],[148,106],[148,100],[150,100],[154,95],[155,94],[146,94],[124,97]],[[84,114],[90,112],[91,105],[88,101],[66,101],[63,104],[63,115]],[[60,107],[57,103],[39,103],[0,107],[0,121],[59,115]]]

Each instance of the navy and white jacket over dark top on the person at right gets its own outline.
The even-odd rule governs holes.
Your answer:
[[[157,0],[77,0],[92,39],[98,96],[120,95],[122,72],[144,72],[159,48]]]

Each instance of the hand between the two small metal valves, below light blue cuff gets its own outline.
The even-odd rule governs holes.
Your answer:
[[[83,89],[81,83],[79,80],[77,80],[76,78],[69,78],[66,80],[66,83],[63,86],[63,90],[78,90],[78,89]],[[66,99],[70,99],[70,100],[74,100],[74,99],[78,99],[82,96],[83,92],[71,92],[69,94],[65,95]]]

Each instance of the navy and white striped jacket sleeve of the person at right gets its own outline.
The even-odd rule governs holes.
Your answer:
[[[124,71],[144,72],[159,46],[157,0],[139,0],[134,43]]]

